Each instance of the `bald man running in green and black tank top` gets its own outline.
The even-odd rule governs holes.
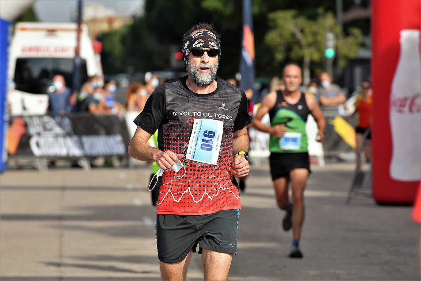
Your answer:
[[[253,119],[253,126],[270,134],[270,170],[277,204],[286,211],[282,222],[284,230],[293,228],[293,245],[289,257],[301,258],[299,239],[304,223],[304,188],[310,172],[307,152],[306,121],[311,114],[317,122],[318,141],[325,140],[326,121],[316,101],[299,90],[301,69],[297,64],[287,64],[283,72],[285,90],[271,92],[261,101]],[[271,125],[261,122],[269,113]],[[291,183],[292,203],[288,198]]]

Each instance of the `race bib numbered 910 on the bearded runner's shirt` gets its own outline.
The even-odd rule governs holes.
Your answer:
[[[189,139],[186,158],[216,165],[221,148],[224,122],[212,119],[195,119]]]

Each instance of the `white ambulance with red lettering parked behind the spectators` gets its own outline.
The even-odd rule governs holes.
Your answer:
[[[76,23],[20,22],[9,48],[8,106],[11,115],[44,115],[48,94],[54,91],[53,77],[64,76],[66,86],[73,89]],[[103,79],[100,50],[94,51],[88,29],[80,32],[80,85],[89,76]]]

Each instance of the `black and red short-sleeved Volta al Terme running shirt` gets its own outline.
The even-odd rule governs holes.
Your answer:
[[[221,120],[224,132],[218,163],[211,165],[183,158],[184,177],[181,177],[184,169],[177,174],[167,169],[159,191],[157,214],[198,215],[240,209],[240,194],[228,168],[232,164],[232,134],[251,122],[245,93],[217,77],[215,91],[197,94],[187,87],[186,79],[187,76],[160,85],[134,123],[149,134],[158,129],[160,150],[185,156],[194,119]]]

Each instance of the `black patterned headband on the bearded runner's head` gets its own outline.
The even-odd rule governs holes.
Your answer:
[[[220,49],[219,40],[216,36],[208,30],[200,30],[192,34],[183,45],[183,59],[184,63],[187,63],[187,59],[190,55],[191,49],[196,48],[211,48]],[[221,56],[221,54],[218,56]]]

